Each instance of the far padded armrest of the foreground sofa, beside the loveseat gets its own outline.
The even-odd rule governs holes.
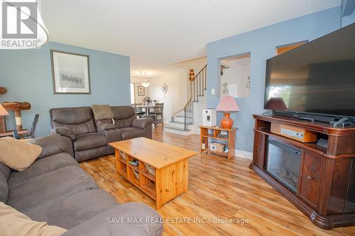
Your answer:
[[[37,159],[48,157],[61,152],[67,152],[72,155],[72,141],[67,137],[62,137],[61,135],[37,137],[33,140],[28,140],[27,142],[42,147],[42,152]]]

